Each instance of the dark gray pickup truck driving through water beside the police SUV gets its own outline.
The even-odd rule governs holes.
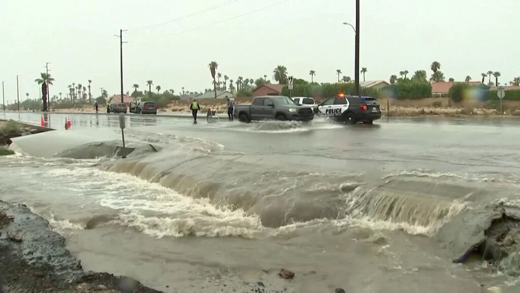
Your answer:
[[[314,111],[309,106],[296,105],[287,96],[257,96],[251,105],[236,105],[235,116],[242,122],[251,120],[296,120],[314,119]]]

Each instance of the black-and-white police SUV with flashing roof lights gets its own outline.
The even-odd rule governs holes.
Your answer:
[[[381,118],[381,108],[373,97],[339,94],[319,104],[315,114],[348,124],[372,124]]]

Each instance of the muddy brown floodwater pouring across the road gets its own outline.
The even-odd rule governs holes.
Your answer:
[[[2,199],[47,218],[86,270],[165,292],[231,291],[226,280],[295,292],[520,288],[480,262],[453,264],[435,237],[462,211],[520,204],[518,120],[125,119],[136,151],[124,159],[74,144],[119,140],[118,116],[54,113],[45,122],[56,131],[19,141],[30,154],[0,158]]]

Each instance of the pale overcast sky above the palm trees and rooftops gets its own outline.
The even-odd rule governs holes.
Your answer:
[[[435,60],[446,79],[493,70],[509,82],[520,76],[518,15],[519,0],[362,0],[361,67],[367,80],[388,80],[401,70],[429,76]],[[150,79],[163,90],[202,91],[210,61],[233,80],[272,79],[284,65],[294,77],[310,79],[313,69],[315,81],[334,82],[336,69],[354,78],[355,36],[344,21],[355,23],[355,0],[3,1],[0,79],[7,101],[16,100],[17,74],[21,99],[34,98],[50,62],[51,95],[88,79],[94,96],[100,87],[118,93],[113,35],[122,28],[125,92]]]

